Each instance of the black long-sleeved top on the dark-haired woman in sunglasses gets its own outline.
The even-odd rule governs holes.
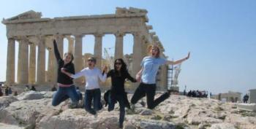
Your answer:
[[[117,73],[115,73],[115,70],[112,69],[108,72],[107,77],[111,77],[111,83],[112,83],[111,93],[113,93],[113,95],[124,94],[125,79],[129,79],[132,82],[137,82],[136,79],[134,79],[133,77],[131,77],[131,75],[129,75],[128,71],[125,72],[124,75],[118,75]]]

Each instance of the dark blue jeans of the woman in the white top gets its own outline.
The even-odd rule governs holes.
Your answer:
[[[86,90],[84,97],[84,106],[87,112],[90,114],[96,114],[97,111],[102,109],[102,103],[100,101],[100,89]],[[91,108],[91,101],[94,100],[94,109]]]

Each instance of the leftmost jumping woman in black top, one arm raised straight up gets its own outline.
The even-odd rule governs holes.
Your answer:
[[[61,55],[59,54],[59,50],[56,44],[56,40],[53,40],[54,54],[58,63],[58,90],[53,95],[52,105],[57,106],[62,101],[65,101],[67,98],[71,98],[72,104],[71,108],[75,108],[78,106],[79,94],[75,90],[75,85],[73,85],[72,77],[67,76],[66,74],[61,72],[61,69],[64,68],[69,73],[75,74],[75,67],[72,63],[74,59],[71,52],[66,52],[64,54],[64,60],[62,60]]]

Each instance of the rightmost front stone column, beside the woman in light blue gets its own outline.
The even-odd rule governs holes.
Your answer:
[[[133,54],[132,54],[132,75],[135,77],[135,74],[140,71],[140,62],[143,60],[142,50],[142,36],[138,32],[133,34]]]

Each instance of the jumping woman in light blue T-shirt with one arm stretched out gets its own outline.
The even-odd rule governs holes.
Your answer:
[[[141,61],[141,69],[136,74],[136,79],[140,82],[140,85],[135,90],[135,93],[132,96],[132,109],[135,108],[135,103],[137,103],[141,98],[146,96],[148,109],[154,109],[159,103],[165,101],[165,99],[170,97],[170,90],[167,90],[166,93],[159,96],[159,98],[154,99],[156,94],[156,76],[159,66],[162,65],[176,65],[182,63],[183,61],[189,59],[189,53],[187,57],[182,58],[181,60],[166,60],[165,58],[160,58],[160,49],[157,45],[151,45],[148,47],[148,54]]]

